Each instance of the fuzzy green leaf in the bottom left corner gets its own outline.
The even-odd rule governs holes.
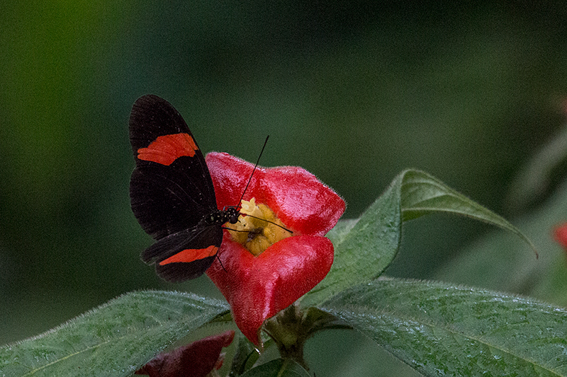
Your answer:
[[[0,376],[130,376],[228,310],[194,294],[125,294],[38,337],[0,348]]]

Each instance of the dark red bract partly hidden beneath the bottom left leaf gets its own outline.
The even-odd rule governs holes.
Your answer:
[[[155,356],[134,374],[150,377],[205,377],[223,365],[223,347],[228,347],[235,337],[230,330],[220,335],[206,337],[191,344],[174,349],[172,352]]]

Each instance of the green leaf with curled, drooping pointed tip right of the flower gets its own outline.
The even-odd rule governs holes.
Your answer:
[[[304,296],[302,305],[316,306],[344,289],[376,279],[398,253],[403,221],[432,212],[460,214],[500,226],[535,250],[529,239],[503,217],[432,175],[404,170],[358,220],[341,221],[327,234],[335,245],[335,261],[327,277]]]

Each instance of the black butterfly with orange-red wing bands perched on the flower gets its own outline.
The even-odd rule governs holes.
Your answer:
[[[236,224],[240,212],[237,206],[217,208],[203,153],[167,100],[138,98],[129,126],[136,163],[130,204],[144,231],[156,240],[142,252],[142,260],[154,264],[159,277],[169,282],[195,279],[215,260],[223,224]]]

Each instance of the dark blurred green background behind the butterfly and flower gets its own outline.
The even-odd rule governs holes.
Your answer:
[[[12,1],[1,8],[0,344],[133,289],[218,296],[206,278],[161,282],[139,259],[151,240],[130,211],[128,116],[143,94],[169,100],[203,151],[254,161],[269,134],[262,165],[307,168],[347,200],[346,217],[358,216],[406,167],[509,218],[523,213],[526,226],[528,204],[544,208],[550,192],[506,199],[521,167],[563,127],[561,1]],[[564,169],[554,173],[559,182]],[[554,223],[562,213],[538,219]],[[388,273],[451,280],[455,274],[439,267],[492,232],[444,216],[410,223]],[[533,260],[511,239],[515,253]]]

